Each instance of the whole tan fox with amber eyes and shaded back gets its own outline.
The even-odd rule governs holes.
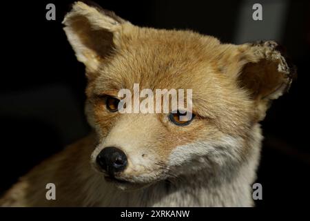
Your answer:
[[[81,1],[63,26],[85,65],[92,130],[21,177],[1,206],[255,206],[260,122],[296,75],[275,41],[138,27]],[[118,91],[134,84],[191,89],[191,119],[121,114]],[[56,200],[46,198],[49,183]]]

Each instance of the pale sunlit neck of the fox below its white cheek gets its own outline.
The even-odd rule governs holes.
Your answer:
[[[249,165],[248,165],[249,166]],[[255,171],[242,166],[234,175],[210,176],[196,173],[180,177],[176,182],[154,187],[154,193],[165,195],[153,206],[253,206],[251,184]]]

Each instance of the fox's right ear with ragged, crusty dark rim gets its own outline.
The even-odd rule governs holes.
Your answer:
[[[231,45],[227,46],[231,48]],[[234,47],[234,46],[233,46]],[[259,41],[236,46],[229,73],[237,78],[258,106],[259,119],[265,117],[269,103],[289,90],[296,68],[290,64],[282,48],[274,41]],[[228,69],[228,68],[227,68]]]

